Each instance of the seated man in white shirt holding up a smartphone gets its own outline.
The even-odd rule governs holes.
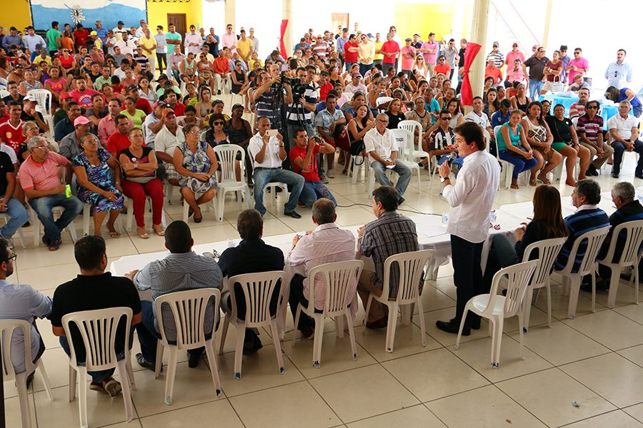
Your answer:
[[[264,215],[264,186],[266,183],[280,182],[291,186],[290,198],[284,206],[284,215],[301,218],[295,212],[297,200],[304,188],[304,177],[281,168],[281,162],[286,159],[284,138],[276,130],[270,129],[270,120],[260,116],[256,120],[259,132],[248,144],[248,151],[254,159],[254,208]]]

